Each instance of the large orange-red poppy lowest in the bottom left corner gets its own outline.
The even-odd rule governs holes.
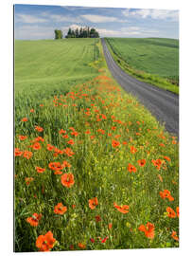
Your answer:
[[[48,231],[45,235],[38,236],[36,240],[36,247],[41,251],[49,251],[54,247],[56,239],[53,237],[53,233]]]

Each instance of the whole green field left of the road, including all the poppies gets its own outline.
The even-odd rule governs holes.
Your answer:
[[[16,42],[15,251],[179,247],[179,141],[95,39]]]

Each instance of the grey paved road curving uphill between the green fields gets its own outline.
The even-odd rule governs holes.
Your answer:
[[[156,119],[165,123],[169,133],[179,137],[179,96],[129,76],[115,64],[103,38],[101,42],[106,62],[116,82],[145,105]]]

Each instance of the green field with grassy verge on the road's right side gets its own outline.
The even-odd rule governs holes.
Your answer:
[[[166,38],[106,38],[126,72],[179,94],[179,41]]]

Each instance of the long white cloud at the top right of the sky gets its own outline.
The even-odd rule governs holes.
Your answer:
[[[142,17],[142,18],[152,18],[152,19],[160,19],[167,20],[170,19],[172,21],[177,21],[179,19],[179,11],[172,9],[125,9],[122,13],[126,17]]]

